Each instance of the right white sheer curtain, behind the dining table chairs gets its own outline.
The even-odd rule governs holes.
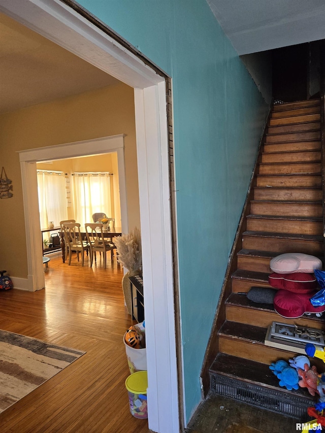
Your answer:
[[[82,226],[92,221],[92,214],[103,212],[112,217],[109,173],[74,173],[75,215]]]

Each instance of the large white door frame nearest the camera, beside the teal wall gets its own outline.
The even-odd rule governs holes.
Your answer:
[[[109,5],[108,5],[109,7]],[[165,79],[59,0],[0,0],[0,10],[135,88],[149,428],[179,432]],[[34,170],[22,164],[22,176]],[[36,176],[36,175],[35,175]],[[26,186],[28,187],[28,185]],[[27,225],[31,223],[28,212]],[[33,245],[27,241],[27,254]],[[28,276],[36,278],[37,271]]]

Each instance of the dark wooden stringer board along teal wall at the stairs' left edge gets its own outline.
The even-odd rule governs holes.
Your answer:
[[[233,248],[232,248],[232,251],[231,251],[231,254],[229,257],[229,261],[228,261],[228,267],[226,269],[224,281],[222,284],[222,289],[221,289],[221,293],[220,293],[220,297],[219,297],[219,301],[218,301],[218,305],[217,305],[217,310],[216,310],[216,313],[215,313],[215,316],[213,319],[213,323],[212,323],[212,327],[211,327],[211,333],[210,333],[210,337],[208,340],[206,353],[205,353],[203,363],[202,363],[200,379],[201,379],[201,389],[202,389],[202,398],[203,399],[206,398],[206,396],[208,395],[209,389],[210,389],[210,377],[209,377],[210,366],[219,352],[218,332],[219,332],[219,329],[220,329],[222,323],[225,321],[225,301],[232,292],[232,278],[231,277],[232,277],[232,274],[237,269],[237,253],[242,248],[242,234],[246,230],[246,216],[250,212],[249,204],[250,204],[250,201],[251,201],[252,196],[253,196],[254,186],[256,185],[257,166],[258,166],[259,162],[261,162],[261,159],[262,159],[263,144],[265,142],[267,126],[268,126],[269,121],[270,121],[272,108],[273,108],[273,99],[270,103],[269,113],[268,113],[266,121],[264,123],[263,131],[262,131],[262,135],[261,135],[261,140],[259,141],[255,165],[254,165],[254,169],[252,172],[250,184],[248,187],[246,200],[245,200],[245,204],[243,207],[243,212],[242,212],[241,218],[239,220]]]

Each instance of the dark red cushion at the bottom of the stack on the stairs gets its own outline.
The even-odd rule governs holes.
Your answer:
[[[313,307],[309,298],[312,293],[291,293],[287,290],[278,290],[274,297],[274,309],[282,317],[296,319],[305,313],[322,313],[325,311],[325,305]]]

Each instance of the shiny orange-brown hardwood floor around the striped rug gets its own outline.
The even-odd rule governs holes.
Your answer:
[[[0,328],[87,353],[0,415],[2,433],[146,433],[129,412],[122,267],[51,258],[46,288],[0,292]]]

